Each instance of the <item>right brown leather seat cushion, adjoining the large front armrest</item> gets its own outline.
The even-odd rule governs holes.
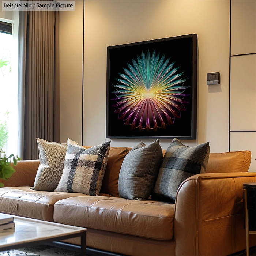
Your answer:
[[[174,204],[120,197],[73,197],[56,202],[55,222],[159,240],[173,238]]]

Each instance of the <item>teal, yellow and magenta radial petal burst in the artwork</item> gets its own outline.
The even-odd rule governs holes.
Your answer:
[[[179,67],[173,68],[174,62],[169,64],[170,58],[149,50],[137,61],[127,64],[124,74],[119,73],[118,84],[113,86],[116,101],[115,113],[123,119],[125,125],[132,128],[157,129],[173,124],[175,118],[181,117],[181,111],[186,110],[184,104],[188,101],[184,97],[189,95],[184,91],[187,79],[182,79],[183,72],[178,73]]]

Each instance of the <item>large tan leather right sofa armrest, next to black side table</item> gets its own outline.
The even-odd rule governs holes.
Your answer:
[[[198,174],[180,185],[174,211],[176,256],[230,255],[245,249],[246,182],[256,182],[256,173]],[[255,245],[255,236],[251,240],[250,246]]]

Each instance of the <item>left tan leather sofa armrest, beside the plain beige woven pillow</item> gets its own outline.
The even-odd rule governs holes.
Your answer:
[[[0,179],[0,182],[4,184],[4,187],[33,187],[39,163],[39,160],[18,161],[14,167],[16,172],[12,174],[9,181]]]

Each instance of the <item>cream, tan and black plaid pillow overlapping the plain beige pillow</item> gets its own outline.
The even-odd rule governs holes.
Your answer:
[[[64,170],[55,192],[98,196],[105,173],[110,141],[85,149],[68,139]]]

